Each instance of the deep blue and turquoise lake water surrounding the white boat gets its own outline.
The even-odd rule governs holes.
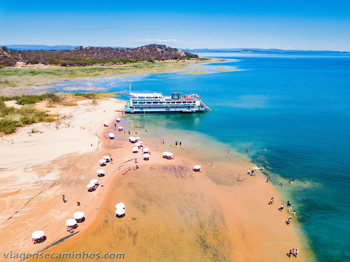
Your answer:
[[[205,114],[139,115],[165,128],[195,130],[246,154],[280,177],[297,206],[302,230],[318,261],[350,261],[350,55],[198,53],[230,58],[210,66],[241,71],[99,78],[109,91],[197,93]],[[233,60],[236,59],[236,60]],[[84,84],[83,84],[84,83]],[[91,83],[90,83],[91,84]],[[66,85],[84,86],[86,81]],[[180,125],[179,125],[180,124]],[[266,148],[266,151],[264,150]],[[289,179],[296,183],[289,185]]]

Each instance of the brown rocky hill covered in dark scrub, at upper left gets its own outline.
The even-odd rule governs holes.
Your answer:
[[[60,66],[87,66],[94,64],[125,64],[167,59],[190,59],[197,55],[165,45],[149,44],[137,48],[78,47],[70,50],[11,50],[0,47],[0,67],[17,62]]]

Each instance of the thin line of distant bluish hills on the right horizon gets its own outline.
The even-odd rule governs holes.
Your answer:
[[[183,49],[187,52],[317,52],[317,53],[350,53],[347,51],[330,51],[330,50],[283,50],[283,49],[261,49],[261,48],[218,48],[218,49]]]

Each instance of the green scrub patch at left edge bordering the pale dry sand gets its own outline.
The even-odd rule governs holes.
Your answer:
[[[0,100],[0,136],[16,132],[18,127],[38,122],[53,122],[55,115],[34,108],[34,104],[26,104],[21,108],[7,107]]]

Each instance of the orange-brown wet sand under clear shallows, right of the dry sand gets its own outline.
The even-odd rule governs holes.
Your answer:
[[[290,227],[286,224],[292,214],[287,208],[278,210],[286,200],[261,172],[257,177],[246,174],[250,163],[225,161],[210,168],[210,162],[201,162],[198,152],[184,146],[173,150],[175,160],[166,160],[162,152],[168,144],[138,135],[152,151],[150,160],[143,161],[141,151],[131,152],[134,145],[126,142],[127,133],[105,141],[103,150],[112,155],[116,171],[96,218],[45,252],[124,253],[126,261],[284,261],[289,249],[297,247],[298,261],[314,261],[293,220]],[[152,150],[155,146],[158,151]],[[135,157],[139,170],[132,168]],[[192,171],[196,164],[203,172]],[[129,166],[131,171],[122,175]],[[271,197],[275,202],[270,206]],[[123,218],[114,213],[119,202],[126,206]]]

